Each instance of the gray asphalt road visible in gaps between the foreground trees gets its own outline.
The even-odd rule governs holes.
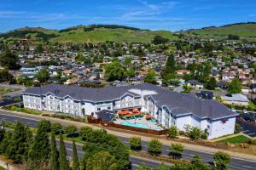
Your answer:
[[[26,118],[24,116],[13,116],[13,115],[6,115],[3,111],[0,112],[0,120],[4,121],[4,122],[11,122],[11,123],[15,123],[15,122],[24,122],[26,123],[28,126],[30,127],[37,127],[38,124],[38,120],[35,119],[29,119]],[[119,137],[119,139],[124,143],[124,144],[128,144],[128,138],[124,138],[124,137]],[[148,142],[143,141],[143,150],[147,151],[147,144]],[[70,146],[71,147],[71,146]],[[162,155],[168,156],[169,155],[169,150],[168,150],[168,145],[163,145],[162,147]],[[71,148],[70,148],[71,149]],[[68,149],[67,149],[68,150]],[[82,153],[82,149],[79,149]],[[183,152],[183,159],[188,159],[191,160],[193,156],[201,156],[202,161],[203,162],[208,162],[208,161],[212,161],[212,153],[211,152],[207,152],[207,151],[201,151],[201,150],[191,150],[191,149],[187,149],[185,148],[184,152]],[[135,167],[140,164],[141,162],[145,162],[148,163],[148,165],[150,166],[156,166],[158,163],[155,163],[153,161],[148,160],[149,162],[145,162],[145,160],[139,160],[138,158],[132,158],[131,157],[131,164],[133,166],[133,169],[135,169]],[[241,159],[241,158],[236,158],[233,157],[232,161],[230,163],[230,168],[232,169],[239,169],[239,170],[250,170],[250,169],[255,169],[256,167],[256,161],[249,161],[249,160],[245,160],[245,159]]]

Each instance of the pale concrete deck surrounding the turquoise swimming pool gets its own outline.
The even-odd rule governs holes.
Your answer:
[[[162,127],[157,126],[156,122],[150,122],[147,121],[145,116],[137,119],[130,119],[130,120],[123,120],[118,118],[114,123],[121,124],[122,122],[129,122],[129,123],[137,123],[137,124],[144,124],[149,127],[149,129],[154,129],[154,130],[163,130]]]

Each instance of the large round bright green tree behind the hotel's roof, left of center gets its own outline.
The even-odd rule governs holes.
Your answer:
[[[125,78],[125,70],[119,61],[113,61],[105,66],[105,77],[109,82],[122,81]]]

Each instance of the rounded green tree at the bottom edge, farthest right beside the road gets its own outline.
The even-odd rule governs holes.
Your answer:
[[[218,151],[214,154],[213,160],[218,169],[227,169],[231,161],[231,156],[223,151]]]

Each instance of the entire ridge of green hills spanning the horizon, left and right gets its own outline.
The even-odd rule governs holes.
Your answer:
[[[235,23],[224,26],[209,26],[201,29],[177,31],[204,37],[239,37],[256,38],[256,22]],[[52,30],[42,27],[23,27],[0,34],[0,39],[30,38],[42,39],[49,42],[151,42],[155,36],[177,39],[172,31],[150,31],[130,26],[118,25],[90,25],[73,26],[61,30]]]

